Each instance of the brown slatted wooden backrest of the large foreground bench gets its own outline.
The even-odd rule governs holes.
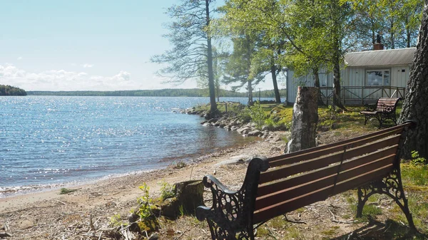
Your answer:
[[[409,124],[267,159],[269,169],[260,173],[253,223],[387,176],[399,165],[399,140]]]

